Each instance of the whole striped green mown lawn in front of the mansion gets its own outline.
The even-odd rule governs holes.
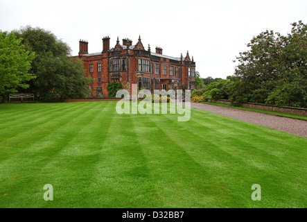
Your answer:
[[[307,139],[115,105],[0,104],[0,207],[307,207]]]

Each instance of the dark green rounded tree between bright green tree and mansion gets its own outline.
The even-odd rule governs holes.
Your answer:
[[[40,99],[82,98],[89,95],[90,78],[80,60],[72,59],[69,46],[50,31],[27,26],[14,31],[28,51],[35,52],[28,84]]]

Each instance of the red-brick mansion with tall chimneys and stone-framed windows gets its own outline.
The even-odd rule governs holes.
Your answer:
[[[114,48],[109,47],[109,37],[103,38],[103,51],[88,52],[88,42],[80,40],[79,55],[86,69],[87,76],[94,81],[89,85],[90,96],[107,97],[107,84],[119,82],[131,94],[132,84],[139,89],[146,88],[150,92],[155,89],[195,89],[195,62],[186,57],[165,56],[162,49],[156,47],[155,53],[146,50],[141,42],[133,45],[132,40],[117,38]]]

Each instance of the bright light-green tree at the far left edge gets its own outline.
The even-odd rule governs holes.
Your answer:
[[[34,53],[29,53],[14,33],[0,31],[0,95],[26,89],[26,81],[34,77],[28,73]],[[1,96],[1,97],[2,97]],[[1,98],[0,98],[1,101]]]

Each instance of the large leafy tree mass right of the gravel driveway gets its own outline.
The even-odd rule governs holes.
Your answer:
[[[306,107],[306,31],[299,21],[287,36],[265,31],[253,37],[249,50],[237,57],[230,100]]]

